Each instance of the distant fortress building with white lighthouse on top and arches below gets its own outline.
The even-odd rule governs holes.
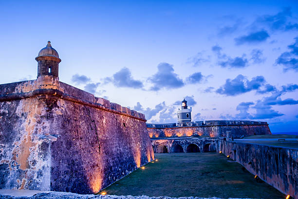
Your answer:
[[[191,121],[191,108],[187,101],[181,102],[177,112],[177,123],[147,123],[149,137],[155,153],[171,153],[187,150],[189,145],[197,145],[196,152],[219,150],[220,139],[239,139],[251,135],[271,134],[268,123],[247,120],[207,120]],[[202,138],[204,137],[204,138]],[[175,150],[179,145],[181,150]],[[206,149],[206,147],[209,147]]]

